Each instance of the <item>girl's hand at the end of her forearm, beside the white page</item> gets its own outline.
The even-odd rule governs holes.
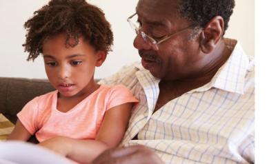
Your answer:
[[[39,146],[46,147],[48,150],[61,155],[67,156],[71,151],[70,139],[64,136],[56,136],[38,144]]]

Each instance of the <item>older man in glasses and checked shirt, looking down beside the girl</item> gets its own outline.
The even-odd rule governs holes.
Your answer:
[[[234,6],[139,0],[128,21],[141,63],[101,83],[126,85],[140,103],[124,148],[93,163],[254,163],[254,63],[224,39]]]

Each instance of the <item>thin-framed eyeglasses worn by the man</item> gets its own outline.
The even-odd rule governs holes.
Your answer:
[[[175,33],[172,33],[172,34],[168,34],[168,35],[165,35],[163,39],[161,39],[160,41],[156,41],[156,39],[153,39],[152,37],[150,37],[148,34],[146,34],[144,31],[141,31],[141,28],[140,27],[137,27],[137,25],[135,25],[135,23],[133,23],[131,21],[132,17],[134,17],[135,15],[137,14],[137,12],[135,12],[134,14],[130,15],[130,17],[128,17],[127,21],[128,23],[130,24],[130,27],[135,30],[136,34],[140,34],[141,33],[141,37],[143,38],[143,40],[145,42],[148,42],[148,39],[147,37],[151,40],[150,43],[152,43],[153,45],[159,45],[160,43],[163,43],[164,41],[170,39],[171,37],[174,37],[175,35],[181,33],[181,32],[184,32],[185,30],[188,30],[188,28],[191,28],[193,27],[193,25],[189,25],[188,27],[186,28],[183,28]]]

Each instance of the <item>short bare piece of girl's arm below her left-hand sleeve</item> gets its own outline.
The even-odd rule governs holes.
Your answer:
[[[26,130],[21,121],[19,121],[18,119],[17,123],[15,124],[14,130],[12,130],[12,133],[8,136],[7,140],[28,141],[28,139],[30,139],[30,136],[32,135],[28,132],[28,130]]]

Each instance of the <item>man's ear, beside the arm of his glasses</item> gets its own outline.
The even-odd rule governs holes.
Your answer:
[[[201,31],[200,48],[205,54],[212,52],[224,33],[224,19],[220,16],[211,19]]]

